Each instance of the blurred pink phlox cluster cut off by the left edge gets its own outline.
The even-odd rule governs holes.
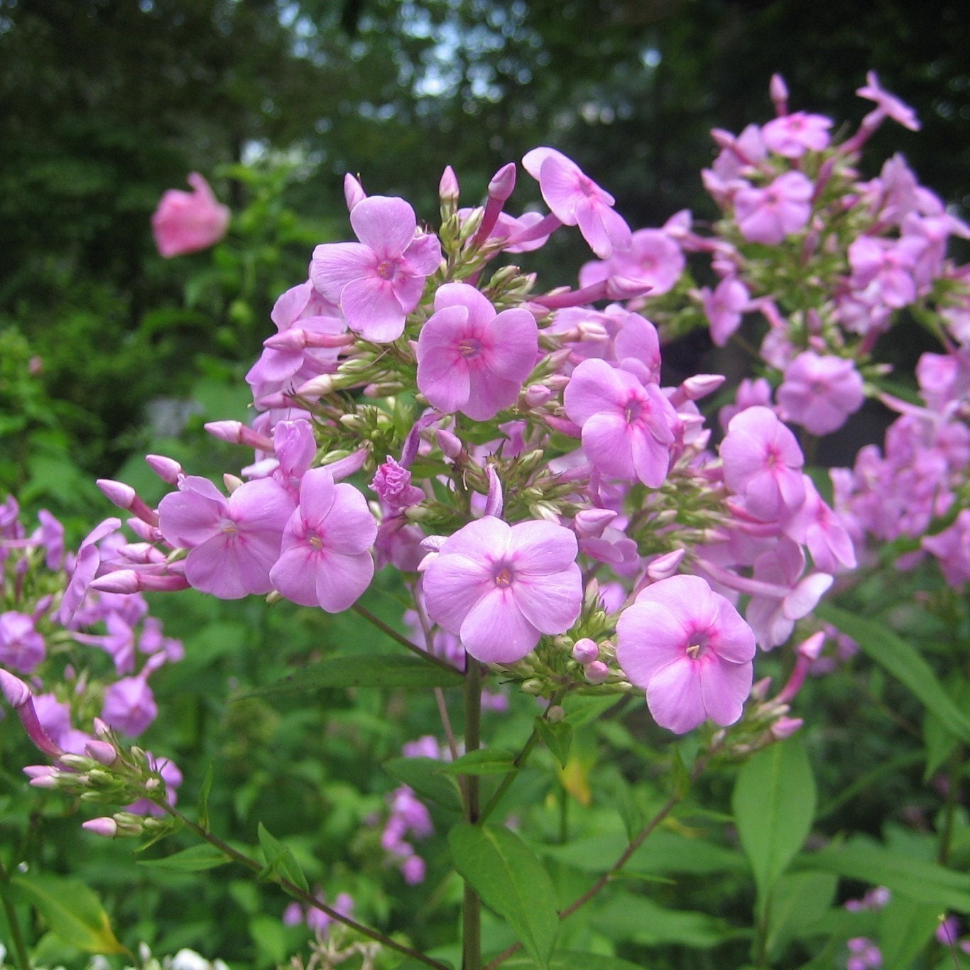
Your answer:
[[[32,784],[44,788],[76,770],[72,757],[113,761],[114,735],[141,736],[158,714],[149,678],[183,649],[140,594],[88,586],[101,564],[145,552],[125,543],[119,520],[98,526],[76,555],[65,552],[64,530],[49,512],[38,518],[28,534],[13,498],[0,511],[0,677],[28,737],[54,762],[29,769]],[[176,765],[146,754],[146,770],[160,773],[174,800]],[[158,809],[139,799],[128,811]]]

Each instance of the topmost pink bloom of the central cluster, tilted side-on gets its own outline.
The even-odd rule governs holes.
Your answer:
[[[600,259],[630,247],[630,226],[613,210],[615,200],[555,148],[533,148],[522,164],[539,183],[546,205],[566,226],[579,226]]]

